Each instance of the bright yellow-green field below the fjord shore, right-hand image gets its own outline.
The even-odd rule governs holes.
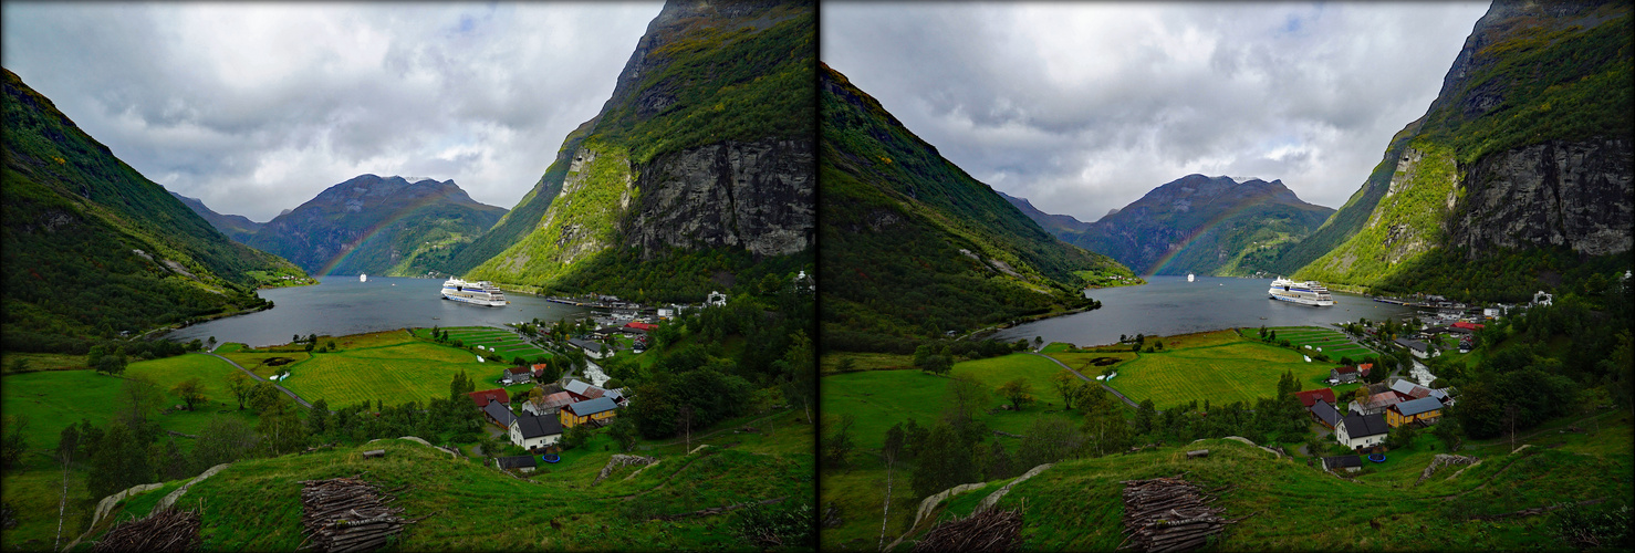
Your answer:
[[[1194,399],[1221,406],[1272,396],[1283,371],[1292,370],[1295,378],[1310,383],[1318,375],[1326,376],[1333,366],[1316,360],[1306,363],[1301,353],[1259,340],[1236,339],[1220,345],[1166,347],[1162,353],[1141,353],[1140,358],[1118,365],[1118,376],[1109,386],[1136,402],[1153,399],[1158,409]]]

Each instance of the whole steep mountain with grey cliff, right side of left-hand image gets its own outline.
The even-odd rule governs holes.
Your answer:
[[[536,291],[700,301],[811,265],[808,2],[669,2],[602,111],[453,257]]]

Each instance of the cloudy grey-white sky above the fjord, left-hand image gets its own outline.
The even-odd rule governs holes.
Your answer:
[[[219,213],[268,221],[361,173],[508,209],[661,7],[7,2],[0,64]]]

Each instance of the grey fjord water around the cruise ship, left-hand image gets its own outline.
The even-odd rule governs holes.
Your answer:
[[[556,321],[585,312],[526,294],[505,294],[504,308],[484,308],[441,299],[443,280],[371,276],[319,276],[316,286],[262,290],[273,309],[222,317],[170,332],[186,342],[216,337],[249,345],[286,344],[294,334],[347,335],[407,327],[500,326],[518,321]]]

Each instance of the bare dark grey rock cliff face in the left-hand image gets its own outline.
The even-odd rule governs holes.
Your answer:
[[[651,255],[669,247],[734,247],[790,255],[813,244],[813,144],[800,139],[721,142],[656,157],[625,226],[625,244]]]

